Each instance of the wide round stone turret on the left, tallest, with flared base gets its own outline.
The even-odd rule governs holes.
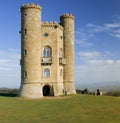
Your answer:
[[[21,7],[20,96],[22,97],[38,98],[42,96],[42,89],[37,85],[41,81],[40,41],[41,7],[37,4],[25,4]]]

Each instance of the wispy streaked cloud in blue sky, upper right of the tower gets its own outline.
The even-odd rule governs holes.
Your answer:
[[[120,19],[116,22],[104,23],[101,25],[88,23],[84,27],[80,28],[80,30],[76,31],[76,37],[77,40],[90,43],[90,41],[95,39],[96,35],[99,33],[104,33],[106,35],[120,39]]]

